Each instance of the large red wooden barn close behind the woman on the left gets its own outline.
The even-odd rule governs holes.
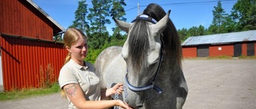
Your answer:
[[[66,49],[54,41],[65,29],[31,0],[0,1],[0,86],[38,88],[58,79]],[[48,70],[47,70],[48,66]]]

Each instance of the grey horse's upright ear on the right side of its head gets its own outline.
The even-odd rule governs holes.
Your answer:
[[[160,34],[164,29],[166,29],[167,22],[169,21],[170,10],[167,12],[157,24],[154,25],[155,33]]]

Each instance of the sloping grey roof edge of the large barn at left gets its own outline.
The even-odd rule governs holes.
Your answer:
[[[32,0],[26,0],[27,2],[30,2],[34,8],[36,8],[38,11],[40,11],[46,18],[48,18],[50,21],[54,23],[54,25],[57,25],[59,29],[62,29],[62,31],[65,31],[65,29],[62,27],[62,25],[59,25],[57,21],[55,21],[53,18],[50,17],[49,14],[47,14],[44,10],[42,10],[37,4],[35,4]]]

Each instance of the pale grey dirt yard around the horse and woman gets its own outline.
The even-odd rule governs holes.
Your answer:
[[[189,94],[183,109],[255,109],[256,60],[183,60]],[[1,96],[0,96],[1,97]],[[0,109],[63,109],[60,94],[0,102]]]

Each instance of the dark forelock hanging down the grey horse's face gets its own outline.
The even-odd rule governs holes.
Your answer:
[[[148,24],[146,20],[138,19],[134,21],[134,25],[129,33],[129,57],[131,64],[134,65],[135,71],[146,66],[147,49],[149,49]],[[142,51],[142,52],[138,52]],[[143,52],[145,51],[145,52]]]

